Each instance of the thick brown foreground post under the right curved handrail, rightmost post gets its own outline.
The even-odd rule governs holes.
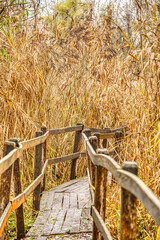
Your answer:
[[[138,174],[136,162],[124,162],[123,170]],[[136,240],[136,197],[124,188],[121,188],[121,240]]]

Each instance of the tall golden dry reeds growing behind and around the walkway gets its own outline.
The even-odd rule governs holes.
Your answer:
[[[67,31],[55,23],[36,31],[28,22],[20,28],[16,20],[4,25],[0,30],[1,157],[5,140],[29,139],[43,124],[48,128],[77,122],[101,128],[126,124],[133,137],[123,143],[121,163],[136,161],[140,178],[160,197],[159,13],[154,7],[144,10],[149,17],[145,20],[144,16],[140,24],[147,37],[142,48],[137,46],[129,54],[120,51],[121,45],[112,44],[107,20],[93,24],[91,11]],[[43,26],[43,20],[39,22]],[[139,34],[139,25],[133,27]],[[71,153],[72,143],[72,134],[53,138],[48,157]],[[33,155],[25,153],[22,164],[27,184],[32,179],[28,166]],[[83,161],[79,166],[80,175]],[[49,169],[48,182],[54,185],[55,180],[68,179],[69,169],[66,163]],[[114,239],[119,231],[119,195],[112,195],[116,188],[109,189],[107,198],[112,200],[107,215],[110,212],[108,224]],[[137,239],[155,239],[157,226],[141,206],[138,219]]]

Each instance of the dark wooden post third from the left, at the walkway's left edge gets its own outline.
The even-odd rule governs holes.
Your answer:
[[[42,136],[43,132],[36,132],[36,137]],[[43,144],[39,144],[35,147],[35,161],[34,161],[34,179],[36,179],[42,170],[42,148]],[[35,188],[33,192],[33,209],[40,210],[40,194],[41,183]]]

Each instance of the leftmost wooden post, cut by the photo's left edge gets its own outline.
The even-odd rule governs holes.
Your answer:
[[[11,152],[15,148],[15,143],[5,142],[4,144],[4,156]],[[2,215],[4,209],[10,200],[10,191],[11,191],[11,178],[12,178],[12,169],[13,166],[10,166],[4,173],[1,175],[1,186],[0,186],[0,216]],[[6,239],[7,227],[1,236],[1,240]]]

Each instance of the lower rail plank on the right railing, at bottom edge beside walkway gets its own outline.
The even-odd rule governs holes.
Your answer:
[[[94,206],[92,206],[92,217],[93,220],[97,226],[97,228],[99,229],[99,231],[102,233],[103,237],[105,240],[112,240],[111,234],[108,231],[105,223],[103,222],[100,214],[98,213],[98,211],[96,210],[96,208]]]

